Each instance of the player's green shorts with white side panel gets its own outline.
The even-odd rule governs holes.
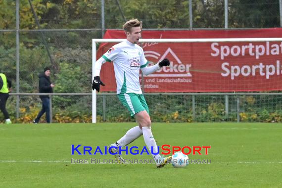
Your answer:
[[[149,108],[143,94],[118,94],[121,103],[130,111],[131,116],[146,110],[149,114]]]

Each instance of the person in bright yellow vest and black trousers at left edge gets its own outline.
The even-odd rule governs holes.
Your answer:
[[[9,97],[9,92],[12,91],[12,82],[7,79],[6,75],[0,73],[0,110],[4,114],[6,124],[11,124],[9,114],[6,110],[6,102]]]

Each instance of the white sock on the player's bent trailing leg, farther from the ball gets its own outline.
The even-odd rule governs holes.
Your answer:
[[[128,130],[120,140],[117,141],[116,145],[124,147],[138,139],[142,134],[142,130],[139,128],[139,126],[133,127]]]

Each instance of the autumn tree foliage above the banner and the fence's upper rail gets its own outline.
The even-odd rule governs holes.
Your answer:
[[[188,0],[105,0],[105,27],[121,28],[138,18],[143,28],[188,28]],[[101,0],[32,0],[40,27],[101,28]],[[224,0],[192,0],[195,28],[224,28]],[[20,1],[20,28],[36,29],[28,0]],[[15,28],[15,1],[0,0],[0,29]],[[230,27],[278,27],[279,0],[229,0]]]

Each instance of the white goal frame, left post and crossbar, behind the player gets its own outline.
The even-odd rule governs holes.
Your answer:
[[[92,79],[94,78],[94,63],[99,58],[96,56],[97,43],[120,43],[125,40],[126,39],[93,39],[92,40]],[[225,43],[225,42],[278,42],[278,41],[279,42],[282,41],[282,38],[140,39],[140,43],[214,43],[214,42]],[[281,46],[281,54],[282,54],[282,46]],[[96,123],[96,91],[92,91],[92,123]]]

